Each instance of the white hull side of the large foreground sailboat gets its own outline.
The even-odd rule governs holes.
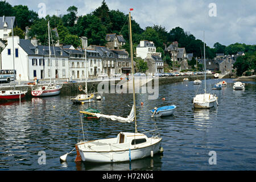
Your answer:
[[[118,150],[118,151],[81,151],[81,159],[83,162],[93,162],[93,163],[113,163],[113,162],[125,162],[129,160],[136,160],[146,158],[151,155],[151,151],[154,154],[159,152],[160,144],[162,138],[159,138],[157,142],[143,148],[134,148],[127,150]]]

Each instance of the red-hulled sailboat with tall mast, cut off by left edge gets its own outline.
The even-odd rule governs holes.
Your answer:
[[[11,31],[13,36],[13,72],[14,72],[14,88],[10,90],[0,90],[0,102],[1,101],[13,101],[20,100],[25,97],[27,91],[15,89],[15,61],[14,61],[14,33],[13,33],[13,18],[11,19]]]

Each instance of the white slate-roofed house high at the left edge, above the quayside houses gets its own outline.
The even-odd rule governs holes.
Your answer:
[[[7,36],[11,32],[11,19],[13,19],[13,26],[14,26],[15,16],[0,17],[0,39],[7,40]]]

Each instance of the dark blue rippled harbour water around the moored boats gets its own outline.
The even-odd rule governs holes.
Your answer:
[[[75,163],[75,153],[60,163],[59,157],[82,140],[80,110],[90,106],[104,114],[126,117],[132,94],[105,94],[105,101],[84,105],[73,105],[69,100],[72,96],[64,93],[1,104],[0,170],[255,170],[256,84],[246,82],[244,91],[234,91],[234,81],[226,79],[228,86],[211,89],[222,80],[207,80],[208,91],[218,96],[219,104],[208,110],[192,109],[197,90],[192,81],[160,85],[157,100],[137,94],[138,131],[162,129],[164,153],[131,163]],[[204,81],[199,93],[203,92],[202,86]],[[177,106],[173,116],[151,119],[148,110],[172,104]],[[104,118],[82,121],[86,140],[116,137],[120,131],[134,132],[134,123]],[[46,152],[46,164],[38,164],[39,151]],[[209,165],[209,151],[216,151],[216,165]]]

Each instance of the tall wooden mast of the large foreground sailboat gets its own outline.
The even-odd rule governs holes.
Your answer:
[[[135,102],[135,86],[134,86],[134,67],[133,67],[133,41],[131,39],[131,12],[129,11],[129,31],[130,31],[130,55],[131,55],[131,72],[133,73],[133,105],[134,105],[134,122],[135,122],[135,133],[137,131],[137,118],[136,118],[136,102]]]

